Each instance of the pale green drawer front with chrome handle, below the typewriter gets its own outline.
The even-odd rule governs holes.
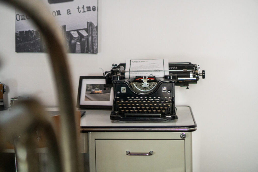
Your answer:
[[[96,171],[185,171],[184,145],[184,140],[96,139]]]

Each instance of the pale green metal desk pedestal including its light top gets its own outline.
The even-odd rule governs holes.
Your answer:
[[[177,121],[151,123],[111,121],[110,111],[87,110],[81,138],[90,171],[192,171],[197,126],[190,107],[177,109]]]

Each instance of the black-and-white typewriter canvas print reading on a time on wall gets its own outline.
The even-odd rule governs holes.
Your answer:
[[[66,38],[70,53],[98,53],[98,0],[41,0]],[[28,15],[15,10],[15,52],[46,52]]]

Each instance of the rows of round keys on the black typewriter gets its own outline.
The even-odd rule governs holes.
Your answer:
[[[172,113],[171,101],[117,101],[115,114],[161,117]]]

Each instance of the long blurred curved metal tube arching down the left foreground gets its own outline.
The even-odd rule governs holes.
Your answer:
[[[46,10],[45,5],[39,0],[2,1],[26,12],[44,36],[56,81],[61,113],[62,165],[65,171],[79,171],[75,105],[72,102],[71,79],[67,65],[66,50],[63,46],[61,33],[58,31],[59,28],[55,25],[54,19],[50,17],[50,12]]]

